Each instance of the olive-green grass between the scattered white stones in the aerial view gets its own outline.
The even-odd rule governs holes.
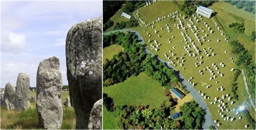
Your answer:
[[[215,5],[215,6],[218,6],[218,5]],[[170,12],[174,12],[176,10],[179,10],[179,8],[176,4],[174,4],[174,2],[157,2],[157,3],[153,3],[152,5],[146,8],[142,7],[138,9],[140,18],[143,19],[146,23],[151,23],[151,24],[152,24],[152,21],[153,20],[156,21],[158,17],[161,17],[161,16],[167,17],[167,15],[170,14]],[[222,12],[218,12],[218,14],[221,14],[221,13]],[[224,18],[224,16],[218,16],[218,14],[217,14],[217,17]],[[180,17],[180,19],[182,19],[182,17]],[[208,97],[210,97],[210,99],[206,99],[205,101],[210,108],[213,120],[219,120],[219,122],[221,123],[221,126],[218,128],[220,129],[221,128],[244,128],[244,126],[248,124],[245,118],[242,118],[241,120],[239,120],[238,119],[239,115],[235,115],[235,112],[224,111],[225,115],[237,119],[237,120],[234,120],[233,122],[231,122],[230,120],[224,121],[223,118],[221,118],[219,113],[217,112],[219,110],[219,107],[217,106],[218,104],[210,105],[210,102],[214,101],[214,97],[221,98],[221,95],[231,94],[231,84],[232,84],[234,72],[231,72],[230,70],[232,68],[235,68],[236,66],[235,66],[235,63],[231,63],[230,58],[232,57],[234,59],[237,59],[237,57],[233,53],[231,53],[231,46],[229,45],[228,42],[225,42],[224,40],[225,38],[221,36],[221,32],[218,31],[217,28],[215,28],[215,24],[213,23],[212,19],[203,17],[203,20],[201,21],[199,20],[198,23],[196,23],[196,21],[193,18],[192,20],[195,23],[195,25],[198,27],[199,38],[201,38],[201,36],[204,36],[205,33],[207,33],[208,35],[207,38],[205,38],[206,42],[203,42],[203,45],[200,45],[196,40],[196,37],[194,36],[192,31],[190,29],[187,29],[188,28],[187,23],[189,22],[188,18],[186,18],[185,21],[183,20],[184,26],[187,29],[186,31],[188,35],[193,39],[192,42],[198,46],[200,51],[202,51],[201,56],[204,57],[203,59],[200,59],[199,56],[196,56],[198,59],[195,59],[194,57],[189,57],[186,51],[183,49],[183,47],[185,46],[185,42],[181,43],[181,40],[183,40],[183,37],[180,35],[180,32],[183,30],[181,29],[178,30],[177,27],[173,26],[174,23],[175,24],[179,23],[177,19],[173,20],[167,17],[166,19],[160,20],[160,22],[154,24],[154,29],[159,31],[157,32],[157,35],[160,35],[161,36],[160,38],[154,34],[154,29],[152,29],[151,26],[146,28],[145,25],[143,25],[142,28],[134,28],[134,30],[137,30],[143,36],[147,49],[151,50],[150,43],[147,42],[149,39],[157,40],[158,43],[161,44],[159,47],[159,51],[156,52],[154,50],[151,50],[151,52],[158,55],[158,57],[160,57],[161,59],[164,59],[167,61],[167,59],[164,56],[164,53],[166,53],[171,57],[172,60],[174,60],[174,57],[171,56],[171,54],[169,53],[169,50],[171,50],[174,54],[176,54],[176,57],[178,57],[179,61],[181,61],[180,57],[182,56],[182,53],[185,54],[184,56],[185,62],[183,63],[184,64],[183,67],[185,68],[185,70],[183,70],[183,67],[177,64],[177,61],[174,60],[175,64],[177,65],[176,69],[178,69],[186,79],[193,77],[194,79],[192,81],[196,83],[196,86],[194,86],[196,90],[201,90],[201,92],[205,93]],[[210,31],[207,30],[206,26],[204,25],[204,22],[210,25],[211,29],[213,30],[212,34],[210,34]],[[232,21],[231,19],[230,22],[235,22],[235,21]],[[166,23],[171,27],[170,33],[167,32],[167,29],[165,26]],[[225,22],[220,20],[220,23],[223,24]],[[226,24],[230,24],[230,23],[226,22]],[[249,26],[249,25],[246,25],[246,26]],[[199,27],[203,28],[205,32],[204,33],[201,32]],[[160,28],[163,28],[163,30],[160,30]],[[146,31],[143,31],[143,29],[145,29]],[[146,35],[146,32],[149,32],[152,36],[149,37],[148,35]],[[174,36],[173,39],[171,38],[172,35]],[[244,39],[247,38],[246,36],[240,36],[240,35],[239,37],[242,37]],[[171,44],[168,43],[167,38],[171,38],[171,41],[172,41]],[[211,40],[211,42],[207,42],[208,39]],[[220,39],[220,43],[217,42],[217,39]],[[229,40],[232,40],[232,37]],[[189,41],[187,42],[189,43]],[[151,42],[151,44],[154,45],[153,42]],[[191,46],[191,43],[189,44]],[[175,47],[175,49],[173,49],[172,47]],[[206,54],[203,52],[203,47],[207,50],[207,52],[210,52],[210,50],[208,50],[208,47],[211,47],[213,50],[212,52],[215,53],[215,56],[207,57]],[[195,53],[193,46],[189,50]],[[225,50],[227,50],[227,53],[224,53]],[[200,60],[203,61],[203,64],[199,65],[199,67],[196,67],[194,64],[195,63],[199,64]],[[225,64],[224,68],[220,67],[219,65],[220,62]],[[218,67],[220,67],[218,71],[223,73],[224,77],[220,77],[220,75],[212,66],[212,63],[215,63],[218,65]],[[216,79],[210,80],[209,79],[210,72],[208,71],[204,71],[203,76],[200,75],[199,70],[203,70],[204,68],[206,68],[206,66],[211,67],[211,69],[213,69],[215,73],[214,75],[217,76]],[[218,84],[215,83],[215,81],[218,81]],[[212,86],[207,89],[206,85],[212,85]],[[217,91],[216,88],[217,87],[220,88],[220,86],[224,86],[225,91],[223,92]],[[238,98],[239,100],[235,101],[235,104],[230,105],[230,101],[227,101],[227,98],[224,100],[229,104],[227,109],[233,110],[233,108],[237,108],[239,105],[245,102],[245,99],[246,99],[245,88],[244,88],[244,84],[242,82],[241,76],[239,76],[239,79],[238,79],[237,93],[239,94],[239,98]],[[251,111],[251,114],[254,115],[254,111]],[[252,127],[250,126],[250,128]]]

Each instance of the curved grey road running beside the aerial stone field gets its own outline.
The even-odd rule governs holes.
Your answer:
[[[131,29],[121,29],[121,30],[114,30],[114,31],[104,32],[103,35],[109,35],[110,33],[114,33],[114,32],[117,32],[117,31],[120,31],[120,32],[126,32],[126,31],[133,32],[133,33],[135,33],[138,36],[140,44],[145,44],[142,35],[140,35],[139,32],[131,30]],[[150,50],[146,49],[145,46],[144,46],[144,51],[146,53],[151,53],[152,57],[154,56],[154,54]],[[194,100],[199,104],[199,106],[202,107],[203,110],[205,110],[206,115],[205,115],[205,124],[203,125],[203,128],[204,129],[208,129],[210,126],[215,126],[215,124],[214,124],[214,122],[212,120],[212,115],[210,113],[210,110],[209,110],[205,100],[203,99],[203,97],[201,97],[201,95],[194,89],[194,87],[191,86],[191,84],[181,75],[181,73],[177,69],[175,69],[171,64],[168,64],[163,59],[160,59],[159,57],[157,57],[157,58],[158,58],[158,60],[163,62],[165,65],[167,65],[169,68],[174,70],[174,72],[178,76],[179,81],[184,86],[186,86],[186,90],[191,93],[191,95],[193,96]],[[217,127],[215,126],[215,128],[217,128]]]

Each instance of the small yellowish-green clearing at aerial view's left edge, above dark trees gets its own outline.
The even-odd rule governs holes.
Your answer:
[[[113,44],[103,49],[103,63],[106,62],[106,59],[111,60],[115,54],[118,54],[122,51],[122,46],[118,44]]]

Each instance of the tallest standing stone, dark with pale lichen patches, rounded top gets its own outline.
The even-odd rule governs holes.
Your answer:
[[[102,17],[69,30],[66,66],[76,128],[88,128],[91,108],[102,98]]]

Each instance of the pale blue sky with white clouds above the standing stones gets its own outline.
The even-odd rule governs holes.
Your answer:
[[[1,88],[16,86],[19,72],[36,87],[39,63],[60,59],[63,85],[66,78],[65,39],[72,25],[102,16],[101,1],[1,2]]]

